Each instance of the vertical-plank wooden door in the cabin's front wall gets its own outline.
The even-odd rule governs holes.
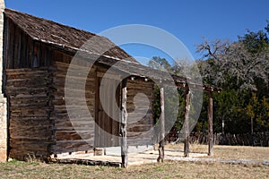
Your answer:
[[[95,117],[95,138],[94,144],[96,148],[116,147],[119,146],[119,88],[117,88],[116,79],[104,79],[98,77],[96,85],[96,117]],[[100,88],[105,88],[100,92]],[[114,92],[113,92],[114,91]],[[116,92],[115,92],[116,91]],[[114,93],[114,94],[113,94]],[[103,98],[103,102],[100,102]],[[117,105],[115,105],[115,98]],[[104,110],[107,109],[108,114]]]

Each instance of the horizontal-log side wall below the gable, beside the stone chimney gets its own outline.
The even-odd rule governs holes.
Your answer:
[[[52,73],[48,68],[8,69],[5,94],[9,102],[10,158],[46,158],[50,155]]]

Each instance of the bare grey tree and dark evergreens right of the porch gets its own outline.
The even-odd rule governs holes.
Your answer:
[[[198,67],[205,83],[222,88],[214,99],[214,132],[269,132],[269,21],[265,30],[247,33],[239,41],[205,41],[197,47],[205,60]],[[204,106],[207,100],[204,98]],[[206,108],[196,130],[206,129]]]

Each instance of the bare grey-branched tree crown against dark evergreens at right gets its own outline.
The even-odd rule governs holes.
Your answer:
[[[203,77],[214,85],[257,90],[257,78],[268,83],[267,49],[251,54],[243,42],[230,43],[218,39],[212,42],[205,40],[198,45],[197,52],[208,57],[206,61],[200,61],[199,66]]]

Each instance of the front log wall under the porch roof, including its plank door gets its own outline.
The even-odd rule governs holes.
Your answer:
[[[118,119],[112,121],[107,114],[102,113],[102,107],[100,104],[99,90],[100,90],[100,78],[103,73],[107,72],[108,67],[96,66],[94,65],[91,68],[91,72],[88,74],[88,78],[85,86],[85,97],[87,101],[87,106],[92,115],[92,118],[86,118],[85,116],[74,116],[75,125],[74,128],[73,122],[70,121],[70,118],[67,114],[65,107],[65,76],[68,67],[77,68],[78,66],[70,66],[70,61],[73,58],[73,55],[67,55],[64,52],[56,51],[54,53],[55,59],[55,71],[54,71],[54,80],[53,86],[56,89],[54,93],[55,99],[52,104],[54,105],[54,112],[51,115],[52,121],[55,121],[55,136],[56,136],[56,145],[52,147],[52,152],[65,153],[73,151],[84,151],[92,149],[93,147],[114,147],[119,145],[119,123]],[[82,66],[79,66],[82,68]],[[81,75],[81,74],[80,74]],[[79,74],[74,75],[74,81],[79,80]],[[119,79],[117,72],[111,74],[115,79],[110,79],[109,81],[115,81]],[[118,76],[118,77],[117,77]],[[113,84],[114,82],[112,82]],[[128,142],[130,145],[143,145],[149,144],[152,141],[152,131],[150,129],[153,125],[153,111],[152,111],[152,101],[154,98],[154,84],[152,81],[144,81],[144,79],[127,82],[127,109],[130,112],[129,121],[127,124],[128,127]],[[112,88],[111,85],[108,85],[108,88]],[[117,88],[117,87],[115,87]],[[112,89],[111,89],[112,90]],[[83,92],[83,91],[82,91]],[[141,116],[141,114],[132,114],[134,111],[134,97],[137,93],[144,93],[150,101],[149,110],[146,112],[142,118],[139,118],[138,121],[132,121]],[[120,98],[120,93],[112,94],[116,96],[117,101]],[[112,96],[110,94],[110,96]],[[112,97],[109,98],[111,99]],[[75,97],[74,97],[75,98]],[[78,100],[78,98],[76,98]],[[79,100],[78,100],[79,101]],[[118,101],[119,102],[119,101]],[[79,104],[74,104],[74,110],[80,109],[80,106],[83,105],[81,102]],[[102,104],[104,105],[104,104]],[[108,105],[108,104],[107,104]],[[119,105],[119,104],[118,104]],[[143,109],[148,107],[148,104],[139,101],[136,104],[140,111],[138,113],[144,113]],[[116,107],[109,107],[109,109]],[[115,112],[116,109],[115,109]],[[102,113],[102,114],[100,114]],[[119,114],[118,114],[119,115]],[[115,114],[116,116],[116,114]],[[136,116],[136,118],[135,118]],[[73,119],[73,120],[74,120]],[[89,124],[89,122],[91,123]],[[95,126],[95,127],[94,127]],[[98,126],[98,127],[97,127]],[[105,133],[100,135],[100,129],[112,134],[110,136],[105,136]],[[98,131],[99,130],[99,131]],[[143,133],[143,134],[141,134]],[[83,138],[80,136],[83,135]],[[115,137],[117,136],[117,137]],[[137,136],[140,137],[137,140]],[[104,140],[106,139],[106,140]],[[110,140],[109,140],[110,139]],[[111,141],[111,142],[110,142]]]

